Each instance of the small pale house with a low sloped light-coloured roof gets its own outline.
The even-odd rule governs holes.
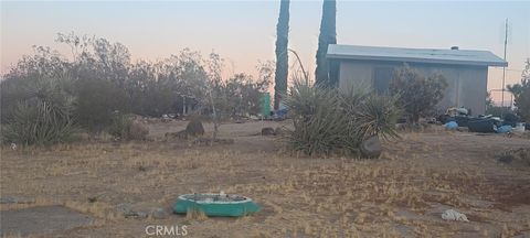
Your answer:
[[[466,107],[473,115],[486,109],[488,67],[506,67],[508,63],[489,51],[434,48],[399,48],[331,44],[327,57],[338,65],[339,88],[371,86],[384,93],[395,67],[405,63],[426,77],[442,74],[448,83],[439,111],[448,107]]]

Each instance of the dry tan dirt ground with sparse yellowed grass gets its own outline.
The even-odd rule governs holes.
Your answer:
[[[528,139],[436,128],[385,141],[380,159],[306,158],[278,137],[259,136],[282,123],[223,125],[220,137],[235,141],[225,145],[165,141],[166,132],[186,127],[172,121],[151,123],[149,142],[6,147],[1,196],[34,203],[0,204],[0,210],[63,205],[94,218],[35,237],[148,237],[149,225],[186,225],[187,237],[530,237],[530,167],[495,158],[530,147]],[[179,194],[220,191],[252,197],[262,210],[153,219],[125,218],[117,209],[170,212]],[[449,208],[470,221],[443,220]]]

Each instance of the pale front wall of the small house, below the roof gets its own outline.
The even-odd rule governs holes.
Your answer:
[[[373,87],[375,71],[395,68],[403,63],[383,61],[341,61],[339,88]],[[437,105],[439,112],[448,107],[466,107],[473,115],[485,112],[488,68],[486,66],[409,63],[425,76],[442,74],[448,83],[444,98]],[[390,79],[390,78],[389,78]]]

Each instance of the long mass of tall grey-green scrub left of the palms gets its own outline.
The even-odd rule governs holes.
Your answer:
[[[106,39],[70,33],[59,34],[56,41],[72,48],[70,57],[34,47],[33,55],[3,76],[3,143],[65,142],[75,130],[93,138],[102,132],[138,138],[123,137],[125,129],[116,129],[117,113],[194,112],[218,122],[256,115],[274,75],[274,64],[265,62],[257,66],[258,78],[244,73],[223,78],[220,55],[204,58],[189,48],[157,62],[132,63],[125,45]]]

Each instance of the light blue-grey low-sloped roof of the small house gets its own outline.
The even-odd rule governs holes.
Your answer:
[[[433,63],[452,65],[508,66],[489,51],[401,48],[330,44],[328,58]]]

